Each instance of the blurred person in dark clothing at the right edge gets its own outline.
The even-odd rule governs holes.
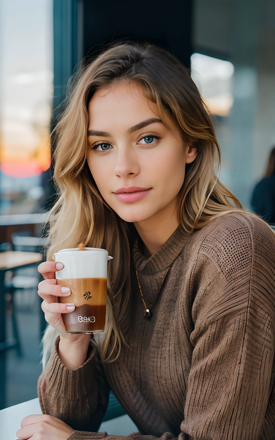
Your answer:
[[[264,179],[254,188],[251,205],[254,213],[275,224],[275,147],[269,155]]]

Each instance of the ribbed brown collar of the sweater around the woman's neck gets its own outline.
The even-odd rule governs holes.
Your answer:
[[[144,275],[162,272],[168,269],[180,255],[189,234],[183,231],[181,224],[168,240],[150,258],[144,257],[139,249],[138,240],[133,246],[133,262],[136,270]]]

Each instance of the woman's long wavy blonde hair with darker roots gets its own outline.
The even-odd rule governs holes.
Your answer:
[[[86,246],[107,249],[114,259],[108,267],[107,324],[99,338],[105,362],[119,355],[124,343],[121,323],[130,290],[131,233],[103,200],[86,161],[88,103],[99,88],[134,83],[158,106],[161,119],[169,117],[180,128],[183,141],[198,149],[186,165],[179,194],[179,217],[187,234],[217,216],[241,212],[238,199],[218,180],[220,147],[211,116],[189,70],[169,52],[151,44],[116,44],[83,68],[72,81],[66,110],[52,133],[55,146],[54,180],[59,198],[49,214],[48,259],[63,248]],[[44,335],[44,359],[55,335],[51,326]]]

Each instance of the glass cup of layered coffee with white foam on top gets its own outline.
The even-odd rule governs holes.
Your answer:
[[[69,287],[68,297],[61,303],[73,303],[75,309],[62,313],[67,333],[103,333],[106,320],[107,262],[106,249],[62,249],[54,254],[55,261],[64,264],[55,273],[59,286]]]

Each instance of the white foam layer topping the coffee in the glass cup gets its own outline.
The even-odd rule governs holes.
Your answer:
[[[54,254],[55,261],[63,263],[64,268],[55,272],[56,279],[107,278],[108,256],[106,249],[78,248],[62,249]]]

